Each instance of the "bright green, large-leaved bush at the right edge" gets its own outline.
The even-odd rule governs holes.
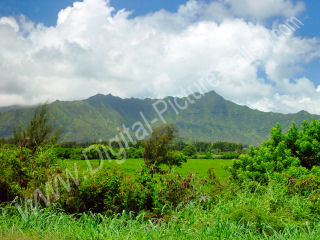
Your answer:
[[[271,139],[261,146],[240,155],[230,169],[233,179],[254,180],[267,183],[275,172],[281,173],[291,167],[311,169],[320,164],[320,120],[306,121],[301,131],[295,123],[286,134],[280,124],[271,129]]]

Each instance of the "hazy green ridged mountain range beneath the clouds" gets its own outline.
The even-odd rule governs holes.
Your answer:
[[[225,100],[215,92],[190,95],[188,98],[122,99],[98,94],[83,101],[50,104],[56,123],[64,127],[63,141],[108,140],[130,128],[133,136],[141,122],[150,126],[175,123],[180,137],[188,141],[231,141],[259,144],[279,122],[284,130],[291,122],[319,119],[305,111],[296,114],[266,113]],[[0,137],[12,135],[14,126],[26,125],[33,108],[0,111]],[[135,124],[136,123],[136,124]],[[141,130],[141,127],[140,127]],[[139,135],[139,134],[138,134]],[[141,134],[140,134],[141,135]]]

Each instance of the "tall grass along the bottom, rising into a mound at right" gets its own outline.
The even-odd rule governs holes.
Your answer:
[[[191,201],[157,219],[125,212],[68,215],[47,208],[29,211],[25,221],[6,207],[0,209],[0,239],[319,239],[319,220],[305,211],[306,203],[274,185],[215,203]]]

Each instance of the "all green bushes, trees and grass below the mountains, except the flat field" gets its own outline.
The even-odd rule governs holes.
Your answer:
[[[108,161],[116,164],[120,156],[108,144],[58,146],[51,137],[26,144],[38,136],[33,132],[43,136],[51,129],[49,121],[43,122],[46,116],[35,114],[29,133],[21,128],[25,134],[19,134],[16,144],[0,147],[2,239],[319,236],[320,120],[303,122],[301,128],[292,124],[286,132],[277,124],[269,140],[247,153],[238,144],[176,141],[174,127],[161,126],[142,144],[127,149],[144,158],[135,174],[127,174],[101,167],[101,160],[88,171],[63,167],[70,161],[65,158],[86,162],[79,158],[83,151],[87,162],[110,155]],[[228,160],[233,164],[224,181],[212,168],[206,176],[174,171],[184,166],[185,156],[201,155],[238,159]]]

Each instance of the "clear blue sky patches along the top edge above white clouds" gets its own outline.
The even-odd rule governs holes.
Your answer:
[[[74,0],[1,0],[0,16],[24,14],[35,22],[47,26],[56,24],[58,12],[72,6]],[[117,10],[125,8],[133,11],[133,16],[166,9],[174,12],[186,0],[111,0],[111,5]],[[307,11],[301,15],[305,24],[298,31],[302,36],[318,36],[320,26],[320,1],[305,1]]]

